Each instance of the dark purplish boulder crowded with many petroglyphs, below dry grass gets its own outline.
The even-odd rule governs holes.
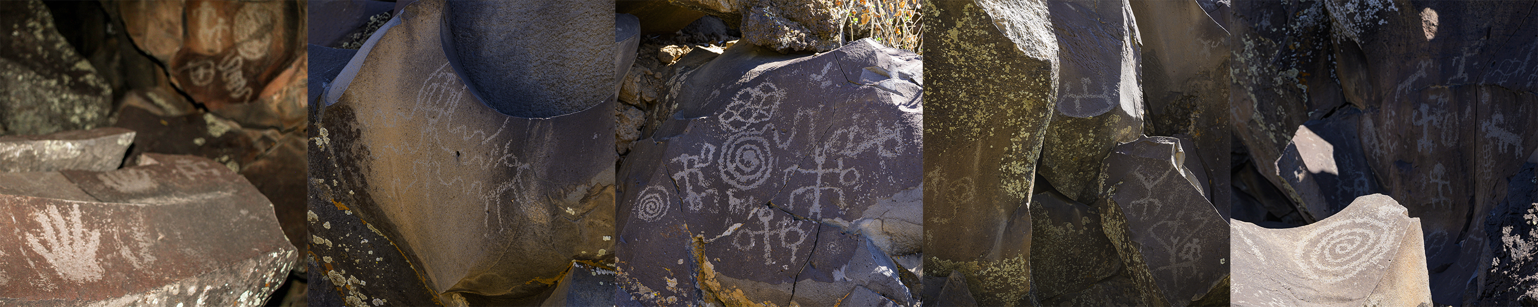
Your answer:
[[[620,170],[620,286],[647,305],[915,304],[892,258],[918,252],[921,71],[874,40],[737,43],[677,77],[678,115]]]

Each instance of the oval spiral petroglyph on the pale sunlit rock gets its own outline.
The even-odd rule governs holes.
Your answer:
[[[1403,233],[1380,216],[1321,223],[1304,233],[1293,255],[1303,273],[1337,282],[1377,267]]]

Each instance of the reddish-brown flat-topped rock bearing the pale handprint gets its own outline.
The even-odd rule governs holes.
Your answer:
[[[0,195],[0,273],[26,276],[0,282],[8,305],[260,305],[294,266],[272,204],[215,161],[146,154],[60,173],[45,177],[92,200]]]

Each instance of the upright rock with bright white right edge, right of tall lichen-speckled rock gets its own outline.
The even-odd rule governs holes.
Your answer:
[[[1069,198],[1094,203],[1100,161],[1143,137],[1138,28],[1127,2],[1047,2],[1057,34],[1057,112],[1043,135],[1041,177]]]

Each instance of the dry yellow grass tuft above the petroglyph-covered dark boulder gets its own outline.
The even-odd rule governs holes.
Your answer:
[[[924,54],[920,0],[835,0],[844,12],[844,41],[875,38],[881,45]]]

